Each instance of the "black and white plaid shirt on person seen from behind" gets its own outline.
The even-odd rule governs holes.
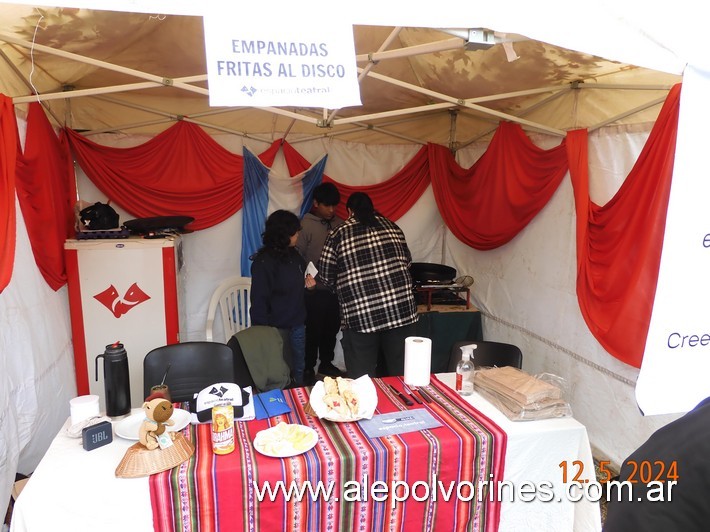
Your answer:
[[[328,235],[318,261],[319,277],[338,294],[343,328],[358,332],[418,319],[404,233],[383,216],[377,222],[367,227],[349,218]]]

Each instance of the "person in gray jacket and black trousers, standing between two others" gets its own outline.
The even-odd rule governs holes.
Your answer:
[[[313,191],[313,208],[301,220],[301,233],[296,249],[306,263],[318,264],[323,242],[331,230],[343,223],[335,215],[340,193],[333,183],[318,185]],[[320,358],[318,373],[331,377],[343,375],[334,364],[335,337],[340,331],[338,297],[316,276],[316,289],[306,292],[306,385],[315,381],[315,365]]]

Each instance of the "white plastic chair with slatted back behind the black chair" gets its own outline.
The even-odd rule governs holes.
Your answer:
[[[207,324],[205,336],[212,342],[214,333],[214,320],[217,316],[217,307],[222,318],[224,343],[227,343],[234,333],[246,329],[251,325],[249,308],[251,307],[250,294],[251,279],[249,277],[230,277],[222,281],[212,294],[210,305],[207,309]]]

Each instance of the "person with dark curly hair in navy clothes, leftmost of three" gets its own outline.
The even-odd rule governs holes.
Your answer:
[[[295,248],[300,230],[295,214],[274,211],[266,219],[262,247],[250,257],[252,325],[279,329],[294,386],[303,385],[306,357],[304,288],[316,284],[312,276],[305,275],[306,263]]]

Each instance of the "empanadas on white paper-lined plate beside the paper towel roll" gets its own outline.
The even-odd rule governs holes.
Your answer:
[[[370,419],[377,408],[377,391],[367,375],[355,380],[325,377],[313,386],[310,404],[321,419],[339,422]]]

